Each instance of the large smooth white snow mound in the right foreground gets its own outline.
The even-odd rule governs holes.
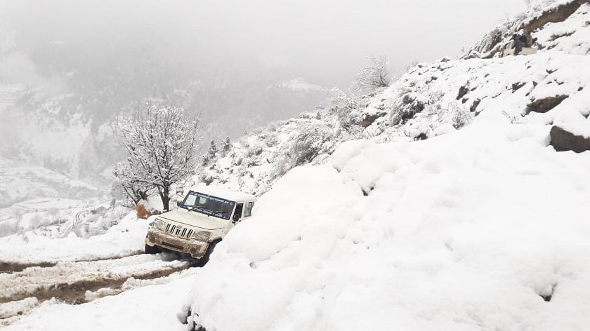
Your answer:
[[[548,132],[489,112],[454,133],[347,142],[327,165],[294,168],[196,276],[195,322],[586,330],[590,153],[557,153]]]

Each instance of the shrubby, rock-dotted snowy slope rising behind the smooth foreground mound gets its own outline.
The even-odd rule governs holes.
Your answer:
[[[461,128],[484,109],[504,112],[513,122],[530,113],[530,121],[548,124],[583,120],[589,111],[580,100],[588,93],[590,62],[573,55],[590,51],[588,22],[586,0],[533,6],[495,27],[468,48],[463,60],[417,65],[372,95],[329,91],[329,107],[245,135],[218,161],[207,163],[198,180],[260,195],[294,166],[325,162],[342,142],[426,139]],[[524,32],[537,40],[539,53],[499,58],[513,34]],[[535,109],[545,103],[549,109]]]

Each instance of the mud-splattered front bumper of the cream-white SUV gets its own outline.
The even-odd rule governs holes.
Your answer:
[[[209,247],[209,243],[206,241],[197,241],[195,239],[172,236],[171,234],[164,234],[164,232],[152,228],[147,230],[145,244],[189,254],[193,259],[200,259],[203,257]]]

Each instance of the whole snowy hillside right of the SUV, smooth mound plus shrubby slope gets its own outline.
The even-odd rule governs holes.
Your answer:
[[[569,38],[585,33],[589,6],[572,4],[533,32],[542,43],[576,31],[551,51],[417,65],[347,104],[352,119],[333,105],[236,142],[208,174],[272,189],[195,276],[189,322],[209,331],[586,330],[590,151],[567,149],[590,139],[590,57]],[[542,22],[556,6],[518,22]],[[317,153],[304,160],[320,165],[266,184],[263,171],[306,126],[322,133],[314,137],[369,139],[306,136]],[[281,138],[263,146],[262,135]],[[226,170],[253,145],[260,151],[238,168],[254,169],[249,184],[233,182]]]

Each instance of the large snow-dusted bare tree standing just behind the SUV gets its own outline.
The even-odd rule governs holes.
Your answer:
[[[195,175],[195,153],[200,142],[199,118],[190,118],[175,106],[156,107],[151,102],[133,116],[119,119],[115,130],[127,151],[126,161],[114,176],[129,194],[157,190],[164,210],[169,210],[170,190]]]

